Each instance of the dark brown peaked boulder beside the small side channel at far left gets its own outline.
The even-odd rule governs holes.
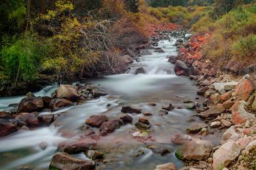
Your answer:
[[[18,105],[17,112],[35,112],[43,108],[43,98],[35,97],[33,93],[27,93],[20,104]]]

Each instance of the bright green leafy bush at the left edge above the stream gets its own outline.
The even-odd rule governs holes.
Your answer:
[[[49,50],[46,44],[37,35],[26,33],[11,46],[5,46],[1,52],[2,73],[5,73],[2,77],[12,82],[35,80],[41,58]]]

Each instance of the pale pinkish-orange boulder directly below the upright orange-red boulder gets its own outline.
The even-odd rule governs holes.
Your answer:
[[[254,114],[245,110],[245,101],[236,101],[230,108],[232,112],[233,124],[242,124],[247,120],[255,118]]]

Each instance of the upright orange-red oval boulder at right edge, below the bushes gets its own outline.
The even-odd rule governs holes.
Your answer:
[[[249,80],[249,75],[245,75],[236,85],[235,96],[238,101],[247,101],[251,92],[253,91],[253,85]]]

